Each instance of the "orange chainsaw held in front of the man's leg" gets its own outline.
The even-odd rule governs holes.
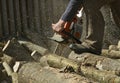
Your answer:
[[[66,22],[64,25],[64,29],[60,32],[60,34],[55,33],[53,37],[50,39],[63,43],[63,42],[72,42],[81,44],[80,32],[79,30],[75,30],[75,24],[77,23],[77,19],[74,18],[72,22]]]

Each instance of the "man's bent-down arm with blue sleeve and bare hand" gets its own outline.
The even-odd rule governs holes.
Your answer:
[[[77,14],[77,11],[81,7],[82,1],[83,0],[70,0],[60,20],[56,24],[52,24],[52,29],[60,33],[64,29],[65,23],[71,22],[73,20],[73,18]]]

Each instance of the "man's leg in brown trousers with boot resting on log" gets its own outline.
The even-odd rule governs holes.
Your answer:
[[[87,34],[82,45],[73,45],[71,48],[76,53],[91,52],[95,54],[101,53],[102,41],[104,35],[104,19],[100,12],[100,8],[105,4],[104,0],[85,0],[84,11],[86,14]]]

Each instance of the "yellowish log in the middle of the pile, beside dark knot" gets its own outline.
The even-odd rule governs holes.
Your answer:
[[[71,66],[73,67],[75,72],[78,72],[80,64],[77,63],[76,61],[66,59],[64,57],[57,56],[55,54],[47,54],[46,56],[47,56],[47,62],[49,66],[55,67],[55,68],[63,68],[65,66]]]

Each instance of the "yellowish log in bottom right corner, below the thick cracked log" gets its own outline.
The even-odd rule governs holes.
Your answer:
[[[108,71],[100,71],[95,68],[82,66],[81,72],[86,77],[93,78],[100,83],[120,83],[120,77]]]

